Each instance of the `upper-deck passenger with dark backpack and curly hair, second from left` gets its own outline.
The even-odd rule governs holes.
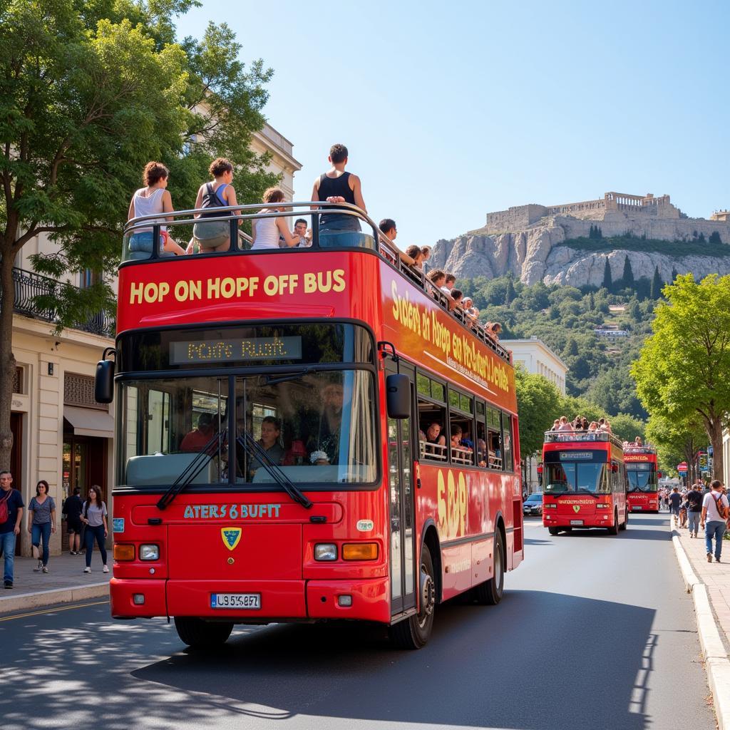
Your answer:
[[[238,205],[233,182],[233,165],[225,157],[212,161],[208,168],[212,183],[203,183],[195,199],[196,208],[211,208],[210,213],[196,213],[195,218],[219,218],[223,215],[240,215],[239,212],[215,210],[228,205]],[[240,225],[241,221],[239,221]],[[188,244],[188,252],[198,246],[200,253],[222,253],[231,247],[231,226],[227,220],[211,220],[209,223],[196,223],[193,226],[193,239]]]

